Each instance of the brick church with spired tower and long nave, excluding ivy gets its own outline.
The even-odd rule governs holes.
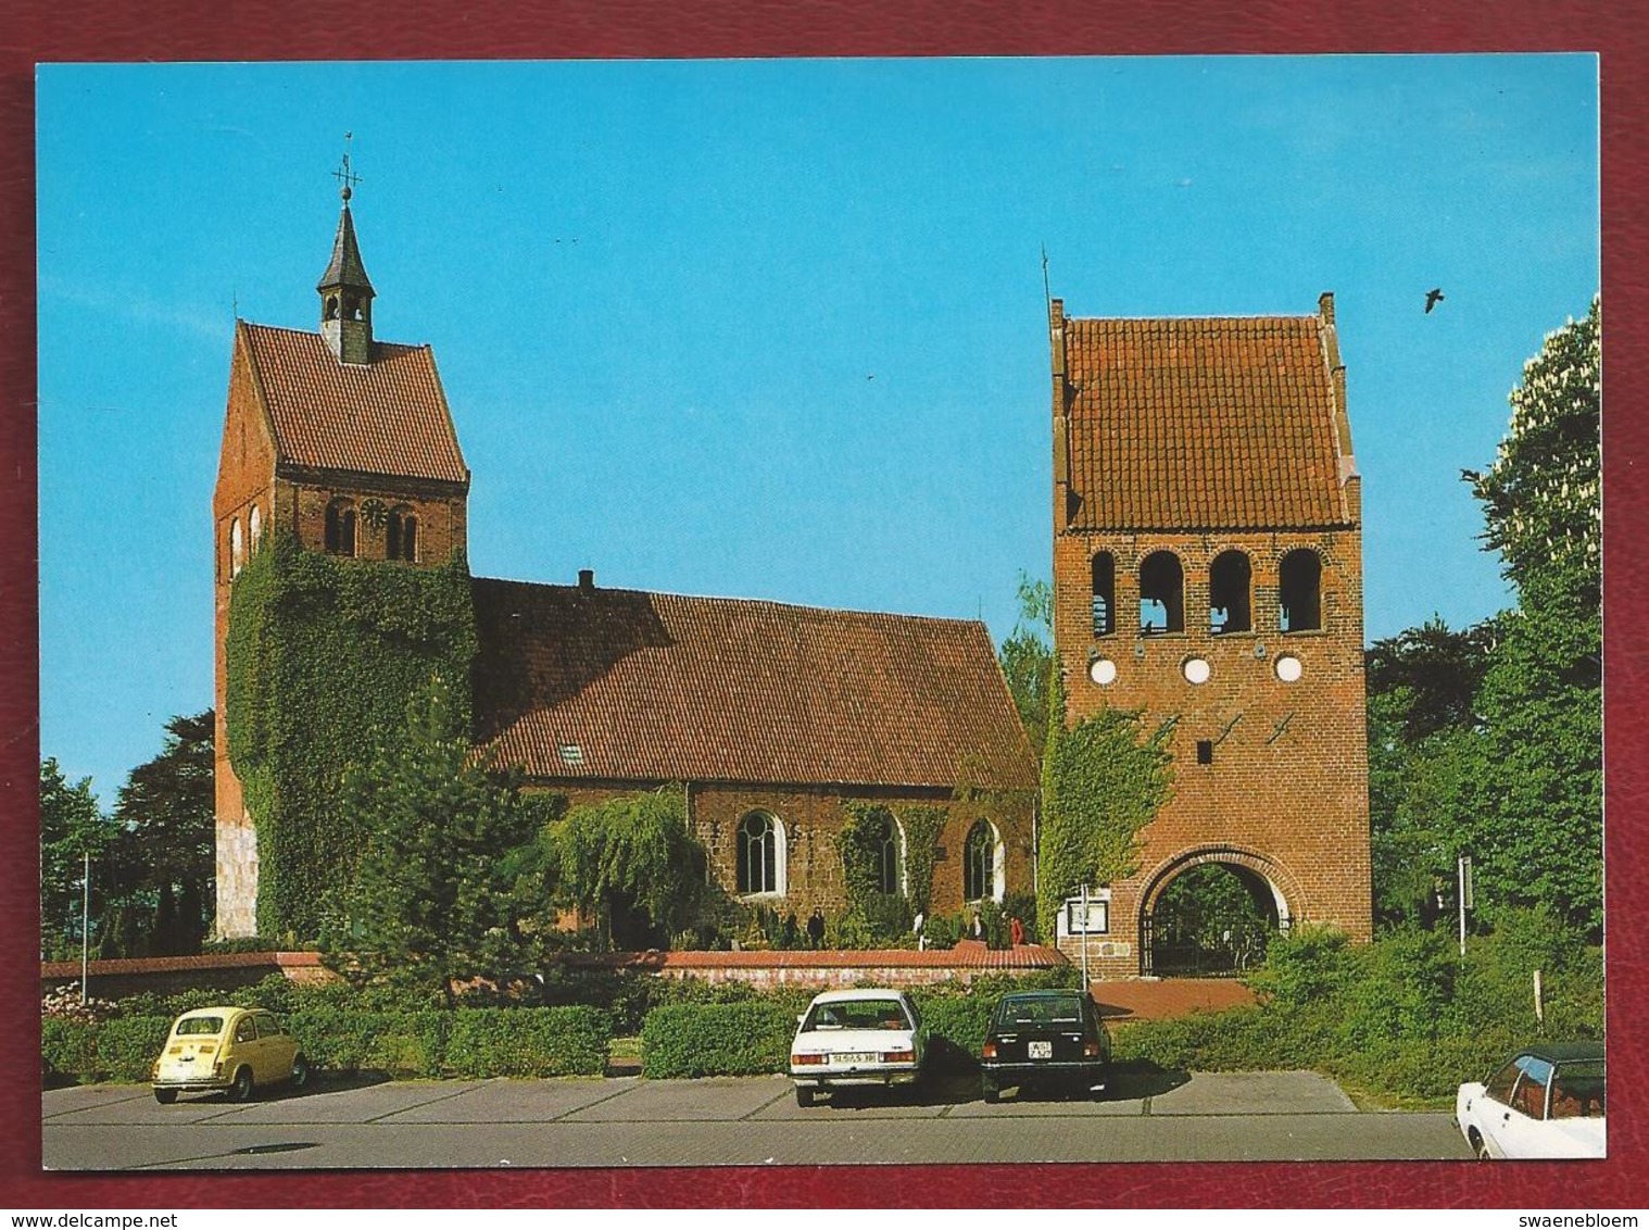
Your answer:
[[[259,829],[226,732],[237,574],[275,534],[406,569],[468,546],[470,470],[434,354],[376,336],[343,198],[318,328],[234,330],[213,495],[219,937],[259,918]],[[589,570],[473,579],[472,595],[477,744],[572,803],[681,785],[734,897],[841,910],[849,801],[890,818],[887,890],[904,885],[902,811],[947,810],[932,913],[1032,889],[1037,767],[983,623],[613,590]]]

